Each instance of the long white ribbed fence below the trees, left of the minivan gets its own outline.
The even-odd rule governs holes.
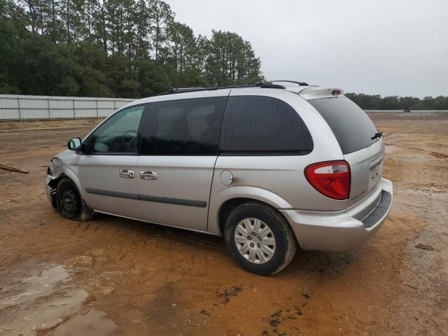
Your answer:
[[[104,118],[133,100],[0,94],[0,120]]]

